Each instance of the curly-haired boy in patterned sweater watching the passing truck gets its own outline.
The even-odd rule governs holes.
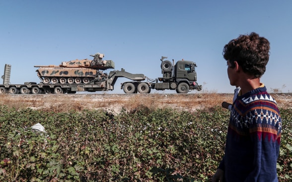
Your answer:
[[[212,182],[278,182],[281,117],[260,77],[270,43],[256,33],[240,35],[223,48],[230,85],[241,88],[231,109],[225,154]]]

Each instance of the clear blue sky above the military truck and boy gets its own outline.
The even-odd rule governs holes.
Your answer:
[[[7,63],[11,84],[39,83],[34,65],[100,52],[117,70],[155,79],[167,56],[195,61],[204,91],[232,92],[223,46],[256,32],[271,43],[261,81],[292,92],[291,8],[291,0],[0,0],[0,76]]]

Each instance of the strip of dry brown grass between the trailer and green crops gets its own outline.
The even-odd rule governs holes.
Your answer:
[[[291,108],[292,94],[272,94],[279,107]],[[119,113],[122,109],[133,110],[140,106],[149,108],[173,108],[195,112],[220,106],[222,101],[231,102],[231,93],[194,94],[1,94],[0,105],[17,110],[38,109],[45,112],[68,112],[82,110],[106,110]]]

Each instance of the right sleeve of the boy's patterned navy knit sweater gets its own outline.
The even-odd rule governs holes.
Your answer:
[[[267,113],[265,118],[263,113]],[[272,111],[263,109],[260,113],[255,111],[252,115],[255,117],[251,121],[249,132],[254,149],[253,170],[245,182],[278,182],[277,158],[281,130],[279,132],[277,118],[280,117]]]

